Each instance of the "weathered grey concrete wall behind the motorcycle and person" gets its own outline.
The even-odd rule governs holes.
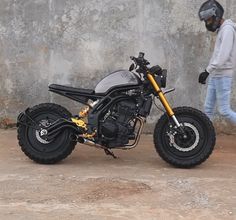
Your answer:
[[[173,106],[202,109],[206,86],[198,74],[210,58],[214,36],[198,19],[202,0],[1,0],[0,117],[40,102],[73,113],[80,105],[49,94],[50,83],[94,88],[111,71],[128,68],[129,56],[146,53],[169,72]],[[236,21],[236,1],[222,0]],[[232,106],[236,109],[236,90]],[[153,109],[149,123],[158,119]],[[153,125],[151,124],[151,127]]]

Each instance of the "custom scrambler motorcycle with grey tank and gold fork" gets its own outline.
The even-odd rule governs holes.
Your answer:
[[[176,167],[188,168],[204,162],[215,145],[211,121],[191,107],[172,109],[165,94],[167,71],[148,67],[144,53],[131,57],[128,70],[116,71],[102,79],[95,90],[49,85],[49,91],[83,103],[86,107],[72,116],[64,107],[43,103],[18,116],[18,140],[32,160],[53,164],[65,159],[77,142],[103,149],[131,149],[139,141],[146,117],[155,99],[165,113],[154,130],[157,153]]]

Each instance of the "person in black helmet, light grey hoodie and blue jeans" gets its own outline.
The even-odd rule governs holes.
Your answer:
[[[205,84],[209,76],[205,113],[212,120],[217,104],[219,113],[236,125],[236,112],[230,107],[232,77],[236,70],[236,24],[223,18],[224,9],[215,0],[204,2],[198,15],[208,31],[217,32],[209,65],[199,75],[201,84]]]

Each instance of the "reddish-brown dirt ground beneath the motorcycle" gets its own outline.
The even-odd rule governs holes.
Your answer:
[[[235,136],[217,136],[194,169],[162,161],[150,135],[114,153],[77,145],[63,162],[39,165],[21,152],[16,130],[0,130],[0,219],[236,219]]]

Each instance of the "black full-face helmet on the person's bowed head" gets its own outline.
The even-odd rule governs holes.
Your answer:
[[[208,0],[202,4],[199,9],[198,16],[201,21],[205,21],[206,28],[209,31],[215,32],[220,27],[220,21],[224,15],[224,8],[215,0]],[[212,18],[210,24],[207,20]]]

